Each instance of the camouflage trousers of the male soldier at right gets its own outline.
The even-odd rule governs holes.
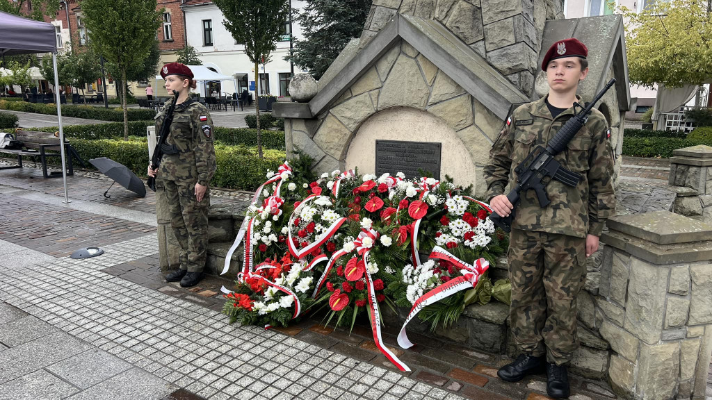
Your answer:
[[[586,278],[586,240],[555,233],[510,233],[510,325],[515,344],[547,361],[570,362],[578,347],[576,298]]]

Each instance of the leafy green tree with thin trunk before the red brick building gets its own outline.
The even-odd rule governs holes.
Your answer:
[[[163,14],[163,9],[157,10],[156,6],[156,0],[82,1],[89,45],[117,66],[122,82],[127,81],[127,71],[139,68],[150,54]],[[124,140],[128,140],[126,85],[122,91]]]

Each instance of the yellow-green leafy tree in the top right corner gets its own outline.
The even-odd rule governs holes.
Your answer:
[[[626,24],[631,83],[669,88],[712,76],[712,18],[708,1],[655,1],[640,14],[620,7]]]

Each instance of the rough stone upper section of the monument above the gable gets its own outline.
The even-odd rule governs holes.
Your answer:
[[[562,19],[557,0],[374,0],[363,48],[397,13],[434,19],[530,95],[548,19]]]

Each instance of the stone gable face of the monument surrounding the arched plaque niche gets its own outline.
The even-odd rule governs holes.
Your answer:
[[[441,119],[456,132],[481,177],[503,121],[405,41],[384,53],[328,112],[316,120],[288,119],[287,151],[298,148],[310,154],[319,173],[352,167],[345,165],[352,137],[365,120],[392,107],[425,110]],[[476,179],[475,189],[484,194],[483,179]]]

